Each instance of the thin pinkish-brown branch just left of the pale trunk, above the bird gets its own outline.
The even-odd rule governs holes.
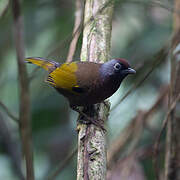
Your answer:
[[[83,12],[84,12],[84,1],[76,0],[76,11],[75,11],[75,22],[73,29],[73,38],[69,47],[69,52],[66,62],[71,62],[76,50],[76,45],[79,39],[80,32],[82,31],[83,22]]]

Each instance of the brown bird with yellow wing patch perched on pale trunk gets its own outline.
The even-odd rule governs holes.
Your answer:
[[[28,57],[26,62],[48,71],[46,82],[65,96],[70,107],[80,114],[83,113],[77,107],[103,102],[119,89],[127,75],[136,73],[128,61],[121,58],[105,63],[73,61],[61,64],[41,57]]]

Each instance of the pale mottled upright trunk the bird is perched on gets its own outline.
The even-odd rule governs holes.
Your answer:
[[[105,62],[111,39],[113,4],[109,0],[86,0],[84,13],[82,61]],[[105,121],[109,106],[94,106],[92,118]],[[94,125],[78,125],[77,180],[106,179],[106,136]]]

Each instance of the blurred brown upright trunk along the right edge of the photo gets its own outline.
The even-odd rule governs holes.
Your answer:
[[[174,37],[171,47],[169,108],[171,108],[171,104],[178,98],[180,93],[180,0],[175,0],[174,3]],[[180,116],[178,115],[177,104],[168,119],[165,162],[166,180],[180,180]]]

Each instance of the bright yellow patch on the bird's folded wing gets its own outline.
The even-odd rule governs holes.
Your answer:
[[[78,87],[75,72],[77,64],[64,63],[49,74],[47,81],[56,88],[72,91],[72,87]]]

